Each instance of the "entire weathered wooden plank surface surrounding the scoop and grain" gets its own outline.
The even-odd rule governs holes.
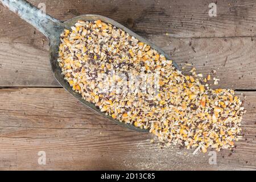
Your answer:
[[[60,20],[82,14],[108,16],[151,40],[179,65],[215,69],[220,88],[245,94],[243,139],[234,151],[192,155],[159,149],[151,134],[115,125],[80,104],[53,78],[48,41],[0,5],[0,169],[256,169],[256,1],[77,1],[46,4]],[[168,34],[167,34],[168,33]],[[46,152],[46,165],[38,152]]]

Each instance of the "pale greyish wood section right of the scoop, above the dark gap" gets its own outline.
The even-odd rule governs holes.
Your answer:
[[[168,39],[149,36],[188,74],[192,67],[206,77],[209,73],[220,82],[212,88],[256,89],[256,68],[251,38]],[[186,66],[184,63],[192,64]],[[212,74],[215,70],[216,74]]]

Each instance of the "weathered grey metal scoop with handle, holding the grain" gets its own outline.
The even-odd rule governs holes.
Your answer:
[[[60,44],[60,34],[63,32],[65,28],[71,30],[71,27],[75,25],[77,20],[84,20],[84,21],[91,21],[91,20],[98,20],[100,19],[102,22],[113,24],[113,26],[121,28],[131,36],[137,38],[140,42],[144,42],[154,48],[159,53],[162,53],[166,56],[167,59],[170,59],[166,53],[164,53],[160,48],[156,47],[154,44],[148,42],[146,39],[142,38],[141,36],[135,34],[133,31],[129,30],[122,24],[115,22],[113,19],[106,18],[105,16],[101,15],[93,15],[93,14],[86,14],[81,16],[76,16],[75,18],[69,19],[65,22],[61,22],[51,16],[42,12],[37,7],[31,5],[25,0],[0,0],[4,6],[9,8],[15,14],[19,15],[20,18],[26,20],[26,22],[32,24],[36,29],[42,32],[48,39],[49,39],[49,61],[51,63],[51,69],[53,72],[54,77],[59,82],[63,88],[65,88],[69,93],[71,93],[74,97],[77,98],[82,104],[90,107],[91,109],[97,111],[97,113],[103,115],[104,117],[110,119],[111,121],[117,123],[118,125],[122,125],[127,129],[131,129],[134,131],[145,132],[148,131],[146,129],[140,129],[139,127],[135,127],[134,125],[130,125],[127,123],[123,123],[118,121],[117,119],[113,119],[105,113],[102,113],[100,109],[94,106],[92,103],[85,101],[81,94],[76,93],[72,90],[71,86],[69,86],[68,82],[64,80],[63,75],[61,75],[61,68],[59,67],[59,63],[57,62],[58,51],[59,51],[59,44]],[[174,63],[174,66],[177,67],[177,64]]]

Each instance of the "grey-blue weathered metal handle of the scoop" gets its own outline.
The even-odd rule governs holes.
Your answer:
[[[52,16],[47,15],[25,0],[0,0],[0,2],[2,2],[3,6],[9,8],[9,10],[42,32],[50,40],[56,38],[56,35],[60,35],[61,30],[63,30],[62,22],[52,18]]]

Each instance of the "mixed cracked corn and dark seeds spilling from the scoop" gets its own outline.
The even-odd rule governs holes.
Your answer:
[[[210,75],[202,78],[195,68],[183,75],[171,60],[112,24],[79,20],[64,30],[58,61],[65,80],[86,101],[149,129],[166,146],[219,151],[241,138],[245,110],[233,90],[210,89]]]

